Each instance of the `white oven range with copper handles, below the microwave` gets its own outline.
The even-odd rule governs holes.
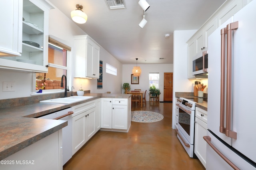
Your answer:
[[[195,104],[198,98],[182,98],[177,99],[178,106],[178,129],[176,129],[177,137],[190,158],[194,158],[194,122],[195,122]]]

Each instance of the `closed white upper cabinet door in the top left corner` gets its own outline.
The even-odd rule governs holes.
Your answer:
[[[0,57],[20,56],[22,51],[22,0],[3,0],[0,14]]]

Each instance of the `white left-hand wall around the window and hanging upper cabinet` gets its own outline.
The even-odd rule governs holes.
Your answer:
[[[72,29],[70,29],[71,26]],[[58,9],[50,10],[49,32],[50,35],[54,35],[55,37],[68,42],[70,47],[73,47],[74,44],[73,36],[86,35],[86,33],[83,32],[78,26],[76,26],[76,24],[74,24],[70,18],[66,17]],[[71,60],[72,63],[74,63],[74,56],[72,56]],[[90,90],[91,93],[106,93],[106,91],[111,91],[111,93],[121,93],[122,88],[120,87],[120,84],[122,83],[122,64],[104,48],[100,49],[100,60],[103,61],[103,89],[97,89],[97,79],[74,78],[74,76],[72,76],[73,81],[70,87],[74,86],[74,91],[77,91],[82,87],[84,90]],[[117,68],[117,76],[106,73],[106,63]],[[75,66],[71,65],[71,67]],[[72,75],[74,75],[74,72]]]

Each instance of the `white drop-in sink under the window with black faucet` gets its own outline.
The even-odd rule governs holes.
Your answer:
[[[42,100],[41,103],[75,103],[78,101],[90,99],[92,96],[71,96],[71,97],[64,97],[64,98],[56,98],[56,99],[48,99],[48,100]]]

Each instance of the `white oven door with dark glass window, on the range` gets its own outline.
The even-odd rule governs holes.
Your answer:
[[[183,134],[190,144],[194,144],[195,111],[188,110],[180,105],[178,105],[178,107],[178,130]]]

